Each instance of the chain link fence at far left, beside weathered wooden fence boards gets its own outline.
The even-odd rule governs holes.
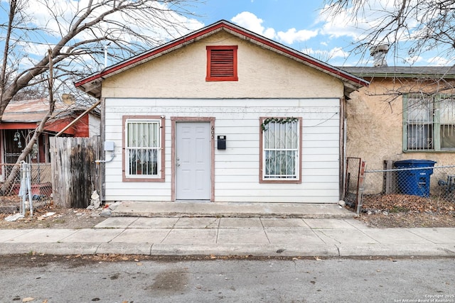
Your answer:
[[[21,165],[1,164],[0,175],[0,206],[2,212],[14,213],[21,206]],[[15,168],[16,167],[16,168]],[[12,172],[16,171],[14,181],[5,187]],[[52,171],[50,163],[31,164],[31,197],[33,208],[39,208],[52,202]]]

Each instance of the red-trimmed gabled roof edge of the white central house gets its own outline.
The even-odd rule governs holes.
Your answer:
[[[238,38],[248,40],[251,43],[255,43],[262,48],[272,50],[276,53],[279,53],[280,55],[284,55],[298,62],[301,62],[304,65],[308,65],[309,67],[313,67],[316,70],[320,70],[321,72],[325,72],[328,75],[341,79],[341,81],[343,81],[346,94],[353,92],[355,89],[358,89],[362,86],[368,85],[368,81],[365,79],[351,75],[338,67],[328,65],[325,62],[316,60],[314,57],[310,57],[309,55],[300,53],[297,50],[288,48],[287,46],[284,46],[273,40],[269,40],[262,35],[257,35],[256,33],[247,31],[245,28],[241,28],[240,26],[236,26],[235,24],[232,24],[228,21],[221,20],[213,23],[210,26],[201,28],[198,31],[184,35],[181,38],[172,40],[157,48],[153,48],[145,53],[141,53],[115,65],[109,66],[104,70],[100,70],[100,72],[96,72],[95,74],[92,74],[88,77],[85,77],[84,79],[81,79],[80,81],[75,82],[75,87],[82,89],[82,91],[86,92],[87,94],[91,94],[94,97],[101,97],[101,82],[103,79],[117,75],[124,70],[128,70],[137,65],[141,65],[149,60],[153,60],[156,57],[170,53],[171,51],[178,48],[183,48],[189,43],[193,43],[195,41],[208,37],[209,35],[213,35],[214,33],[218,33],[218,31],[227,31],[228,33],[231,33]]]

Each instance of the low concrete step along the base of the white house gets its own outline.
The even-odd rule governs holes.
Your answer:
[[[214,216],[283,218],[352,218],[354,212],[338,204],[237,202],[122,202],[112,216]]]

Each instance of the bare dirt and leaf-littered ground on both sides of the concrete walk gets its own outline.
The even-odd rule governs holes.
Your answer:
[[[11,204],[20,202],[0,197],[0,208]],[[439,199],[403,194],[365,197],[362,209],[356,219],[374,228],[455,227],[455,203]],[[55,214],[45,216],[51,213]],[[66,209],[50,202],[34,208],[33,217],[27,213],[25,218],[13,222],[5,220],[11,213],[0,211],[0,228],[92,228],[107,219],[100,214],[101,209]]]

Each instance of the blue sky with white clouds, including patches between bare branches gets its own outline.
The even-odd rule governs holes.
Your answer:
[[[43,9],[43,1],[27,0],[28,13],[33,16],[33,23],[37,28],[45,26],[53,30],[54,36],[48,31],[41,31],[36,34],[36,39],[28,43],[27,53],[30,57],[36,56],[37,60],[46,53],[48,45],[59,40],[59,28],[68,26],[72,20],[77,6],[83,7],[87,0],[53,0],[53,13],[57,13],[60,23],[50,20],[50,13]],[[102,0],[95,0],[100,2]],[[419,0],[410,0],[419,1]],[[193,11],[198,16],[178,16],[176,20],[190,24],[191,30],[197,30],[203,26],[225,19],[232,23],[247,28],[259,35],[287,45],[302,53],[306,53],[318,60],[335,66],[372,66],[373,58],[368,51],[353,53],[356,41],[362,35],[362,28],[374,28],[375,22],[382,22],[385,9],[390,9],[395,0],[370,0],[368,13],[365,18],[359,18],[364,22],[355,26],[350,21],[351,13],[343,11],[333,18],[326,18],[322,15],[323,0],[188,0],[183,1],[186,9]],[[0,4],[6,7],[6,0],[0,0]],[[112,4],[112,2],[111,2]],[[188,6],[192,4],[193,6]],[[59,7],[60,6],[60,7]],[[58,13],[60,11],[60,13]],[[382,15],[381,15],[382,13]],[[119,16],[117,16],[119,17]],[[364,16],[363,16],[364,17]],[[116,16],[112,16],[116,18]],[[171,16],[171,18],[173,18]],[[6,21],[5,11],[0,10],[0,21]],[[119,23],[127,22],[125,18],[118,18]],[[56,35],[55,35],[56,33]],[[147,35],[146,29],[143,31]],[[167,35],[166,31],[163,31]],[[179,33],[181,35],[184,33]],[[173,37],[165,37],[173,39]],[[90,33],[81,35],[82,38],[90,38]],[[43,39],[43,40],[39,40]],[[1,46],[0,37],[0,46]],[[89,57],[82,58],[89,61]],[[405,50],[397,53],[389,52],[387,63],[389,66],[400,65],[453,65],[454,60],[439,57],[436,50],[426,52],[419,57],[408,57]],[[109,62],[112,64],[113,62]]]

